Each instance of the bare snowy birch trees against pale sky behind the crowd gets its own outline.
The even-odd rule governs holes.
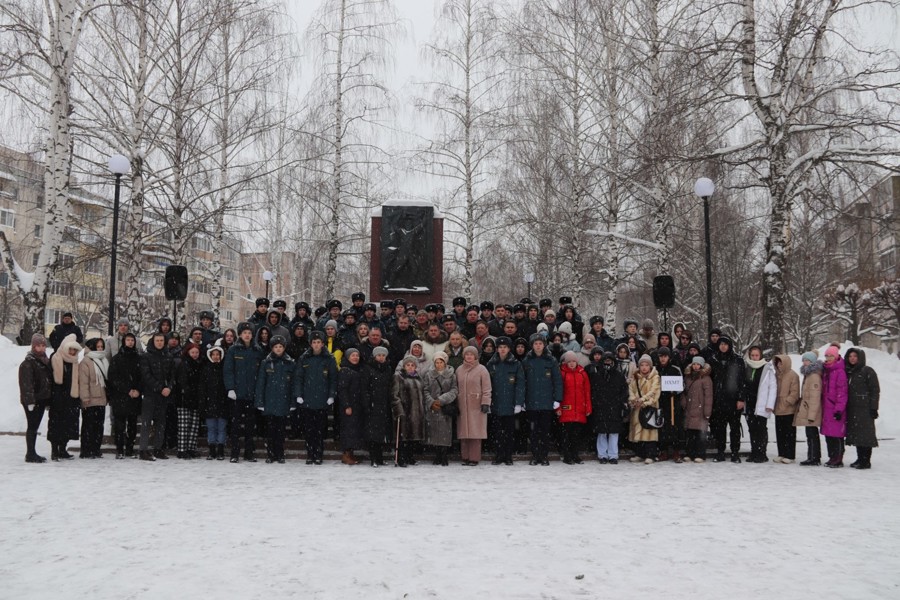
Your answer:
[[[298,30],[274,0],[0,0],[5,137],[40,150],[33,279],[0,252],[41,329],[69,189],[131,161],[122,310],[146,320],[140,257],[185,264],[204,233],[297,254],[320,302],[365,289],[369,211],[445,216],[445,289],[571,294],[615,331],[674,276],[672,317],[745,347],[810,348],[900,325],[892,281],[843,281],[825,247],[849,201],[898,173],[900,59],[859,23],[894,1],[442,0],[419,76],[391,77],[409,24],[391,0],[323,0]],[[107,242],[108,244],[108,242]],[[205,265],[218,315],[221,264]],[[183,315],[182,315],[183,318]],[[705,332],[704,332],[705,333]]]

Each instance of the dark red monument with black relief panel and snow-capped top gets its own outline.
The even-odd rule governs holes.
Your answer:
[[[430,202],[394,200],[372,211],[371,256],[372,302],[443,302],[444,219]]]

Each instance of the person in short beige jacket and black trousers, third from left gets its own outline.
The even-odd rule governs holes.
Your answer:
[[[81,451],[79,458],[102,458],[103,421],[106,420],[106,379],[109,360],[100,338],[85,342],[78,364],[78,397],[81,400]]]

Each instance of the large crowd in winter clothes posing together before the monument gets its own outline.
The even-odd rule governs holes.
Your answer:
[[[744,419],[745,460],[763,463],[770,417],[777,463],[796,460],[798,427],[803,466],[822,464],[820,436],[831,468],[843,466],[846,444],[857,448],[850,466],[869,469],[878,445],[878,377],[859,348],[842,357],[833,344],[822,360],[807,352],[798,376],[788,355],[767,360],[751,346],[741,356],[718,329],[701,346],[682,323],[657,333],[649,319],[626,320],[614,338],[565,296],[556,308],[460,297],[450,311],[401,298],[376,306],[361,292],[351,300],[346,309],[298,302],[289,315],[283,300],[259,298],[236,329],[215,330],[204,311],[184,339],[162,318],[146,348],[125,319],[114,335],[84,340],[66,313],[49,357],[35,334],[19,368],[25,460],[46,460],[36,451],[45,410],[52,460],[73,458],[67,445],[79,436],[81,458],[102,457],[107,406],[116,458],[145,461],[172,448],[199,457],[203,425],[207,460],[224,460],[230,446],[232,463],[256,462],[260,437],[266,462],[284,463],[290,435],[305,441],[306,464],[321,464],[329,431],[342,462],[365,451],[373,467],[385,451],[399,467],[424,451],[446,466],[457,442],[465,466],[486,450],[495,465],[530,453],[546,466],[553,449],[579,464],[588,448],[601,464],[617,464],[623,448],[647,465],[703,463],[710,450],[715,462],[740,463]]]

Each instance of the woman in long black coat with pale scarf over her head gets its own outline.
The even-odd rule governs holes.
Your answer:
[[[53,368],[52,400],[50,402],[50,423],[47,439],[52,444],[52,460],[75,458],[66,451],[69,440],[78,439],[78,353],[81,344],[75,334],[70,333],[50,357]]]

